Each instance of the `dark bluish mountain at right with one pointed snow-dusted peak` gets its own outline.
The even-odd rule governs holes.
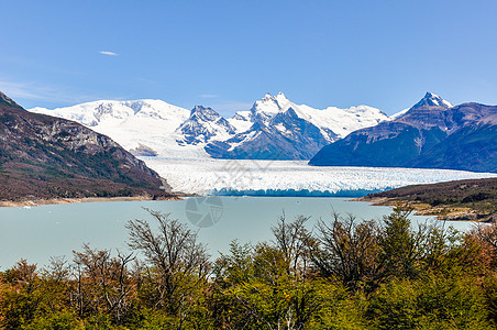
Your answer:
[[[380,166],[497,172],[497,107],[452,106],[427,92],[404,116],[357,130],[321,148],[318,166]]]

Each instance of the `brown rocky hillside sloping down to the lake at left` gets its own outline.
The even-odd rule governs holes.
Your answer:
[[[164,185],[110,138],[0,92],[0,200],[168,196]]]

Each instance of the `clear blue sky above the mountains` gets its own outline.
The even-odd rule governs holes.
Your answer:
[[[0,90],[24,108],[162,99],[224,116],[283,91],[393,114],[497,105],[497,1],[3,1]]]

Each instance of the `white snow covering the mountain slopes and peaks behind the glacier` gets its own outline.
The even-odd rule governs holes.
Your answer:
[[[299,118],[318,127],[330,143],[355,130],[390,120],[383,111],[367,106],[346,109],[329,107],[320,110],[306,105],[296,105],[279,92],[276,96],[266,94],[251,110],[239,111],[228,119],[228,122],[234,128],[235,133],[243,133],[248,131],[255,121],[268,124],[277,113],[288,111],[290,108]],[[208,158],[209,155],[203,150],[207,143],[227,141],[234,135],[218,121],[205,121],[203,129],[211,138],[206,142],[198,141],[195,145],[185,143],[185,136],[178,128],[188,120],[190,111],[162,100],[101,100],[54,110],[34,108],[30,111],[77,121],[110,136],[129,151],[137,147],[148,148],[158,157]],[[291,132],[285,131],[284,125],[276,129],[288,136],[291,135]],[[240,143],[243,144],[253,136],[255,135],[250,134],[248,140],[245,139]],[[230,146],[231,150],[233,147],[234,144]]]

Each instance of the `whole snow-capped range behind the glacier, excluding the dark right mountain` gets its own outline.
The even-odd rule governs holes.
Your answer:
[[[319,110],[296,105],[281,92],[267,94],[230,119],[210,108],[188,111],[161,100],[104,100],[30,111],[82,123],[135,155],[167,158],[309,160],[357,129],[389,120],[372,107]]]

